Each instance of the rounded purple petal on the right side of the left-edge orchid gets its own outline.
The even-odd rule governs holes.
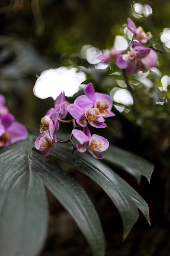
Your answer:
[[[14,122],[9,128],[6,129],[9,134],[11,143],[19,140],[25,140],[28,137],[27,129],[20,123]]]

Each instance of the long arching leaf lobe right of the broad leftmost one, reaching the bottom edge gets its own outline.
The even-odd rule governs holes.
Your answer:
[[[44,184],[74,218],[89,242],[94,256],[104,255],[105,241],[100,220],[84,189],[72,176],[47,158],[40,158],[39,154],[34,152],[31,159]]]

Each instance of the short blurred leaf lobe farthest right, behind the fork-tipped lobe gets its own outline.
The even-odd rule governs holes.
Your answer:
[[[154,166],[146,159],[113,145],[109,145],[107,151],[102,154],[106,161],[129,172],[138,182],[143,175],[150,183]]]

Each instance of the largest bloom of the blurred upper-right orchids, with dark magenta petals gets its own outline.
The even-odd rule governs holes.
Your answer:
[[[146,69],[157,68],[156,61],[156,52],[134,43],[134,47],[131,47],[127,54],[121,54],[117,58],[116,65],[120,69],[125,69],[126,75],[130,75],[136,73],[138,70],[145,72]]]

